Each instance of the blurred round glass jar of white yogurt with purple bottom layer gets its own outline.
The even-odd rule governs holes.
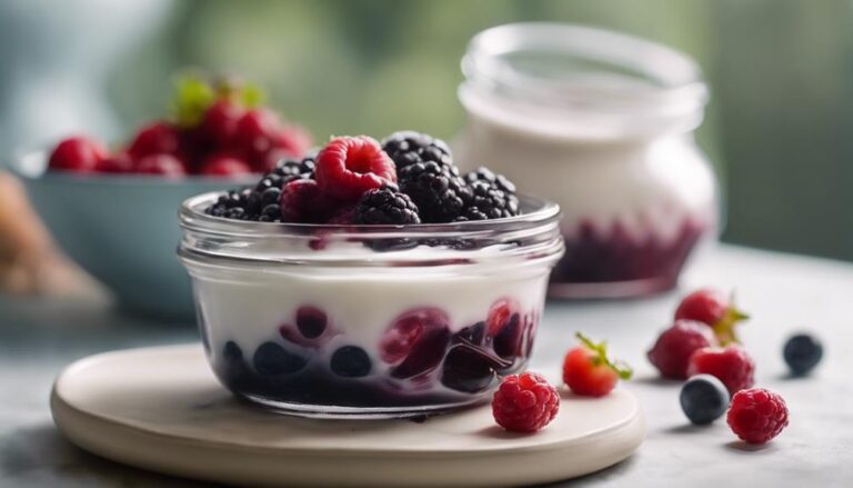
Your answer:
[[[475,36],[462,69],[455,159],[563,211],[550,295],[673,288],[717,226],[715,178],[693,138],[708,98],[696,64],[608,31],[518,23]]]

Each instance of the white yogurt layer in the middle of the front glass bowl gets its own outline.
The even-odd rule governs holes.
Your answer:
[[[214,349],[234,340],[251,355],[264,341],[280,339],[279,327],[294,323],[299,307],[313,306],[325,311],[330,327],[342,332],[333,341],[360,346],[378,357],[377,346],[385,330],[412,309],[443,310],[454,331],[485,320],[500,298],[514,299],[522,313],[541,312],[548,269],[539,268],[500,276],[470,270],[435,275],[411,268],[329,275],[308,267],[298,272],[217,269],[191,273]],[[325,349],[331,353],[334,348],[331,342]]]

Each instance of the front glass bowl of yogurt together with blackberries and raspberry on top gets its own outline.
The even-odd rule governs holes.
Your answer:
[[[180,209],[229,390],[298,416],[412,417],[488,401],[523,370],[563,253],[555,203],[461,175],[411,131],[338,137],[272,175]]]

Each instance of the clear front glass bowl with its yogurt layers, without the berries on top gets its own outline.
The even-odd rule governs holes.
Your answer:
[[[559,207],[417,226],[228,220],[180,210],[208,360],[237,396],[309,417],[448,411],[524,367],[548,276],[563,252]]]

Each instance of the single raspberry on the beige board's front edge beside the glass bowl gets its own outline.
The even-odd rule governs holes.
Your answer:
[[[492,415],[499,426],[515,432],[535,432],[556,417],[560,395],[535,372],[510,375],[492,399]]]

